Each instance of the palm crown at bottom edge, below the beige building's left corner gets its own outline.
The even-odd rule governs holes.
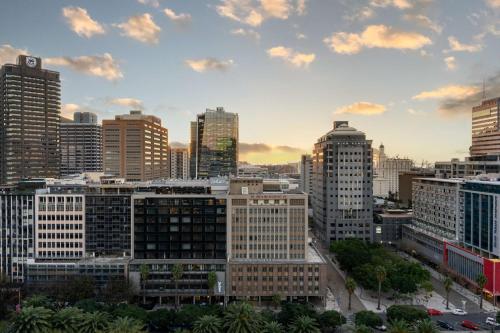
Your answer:
[[[259,316],[248,303],[233,303],[224,314],[227,333],[260,333],[261,326]]]

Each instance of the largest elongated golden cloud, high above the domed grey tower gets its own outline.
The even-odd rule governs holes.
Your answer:
[[[337,32],[323,40],[336,53],[356,54],[364,47],[416,50],[432,41],[419,33],[399,31],[390,26],[370,25],[361,33]]]

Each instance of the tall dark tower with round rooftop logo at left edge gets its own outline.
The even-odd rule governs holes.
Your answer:
[[[0,183],[59,176],[59,73],[20,55],[0,70]]]

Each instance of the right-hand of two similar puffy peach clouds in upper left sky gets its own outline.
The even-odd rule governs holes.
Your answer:
[[[122,35],[143,43],[158,44],[161,28],[153,21],[151,14],[131,16],[126,22],[115,24]]]

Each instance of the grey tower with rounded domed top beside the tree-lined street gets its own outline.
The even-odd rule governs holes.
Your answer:
[[[313,151],[312,208],[318,237],[369,241],[373,223],[372,141],[335,121]]]

